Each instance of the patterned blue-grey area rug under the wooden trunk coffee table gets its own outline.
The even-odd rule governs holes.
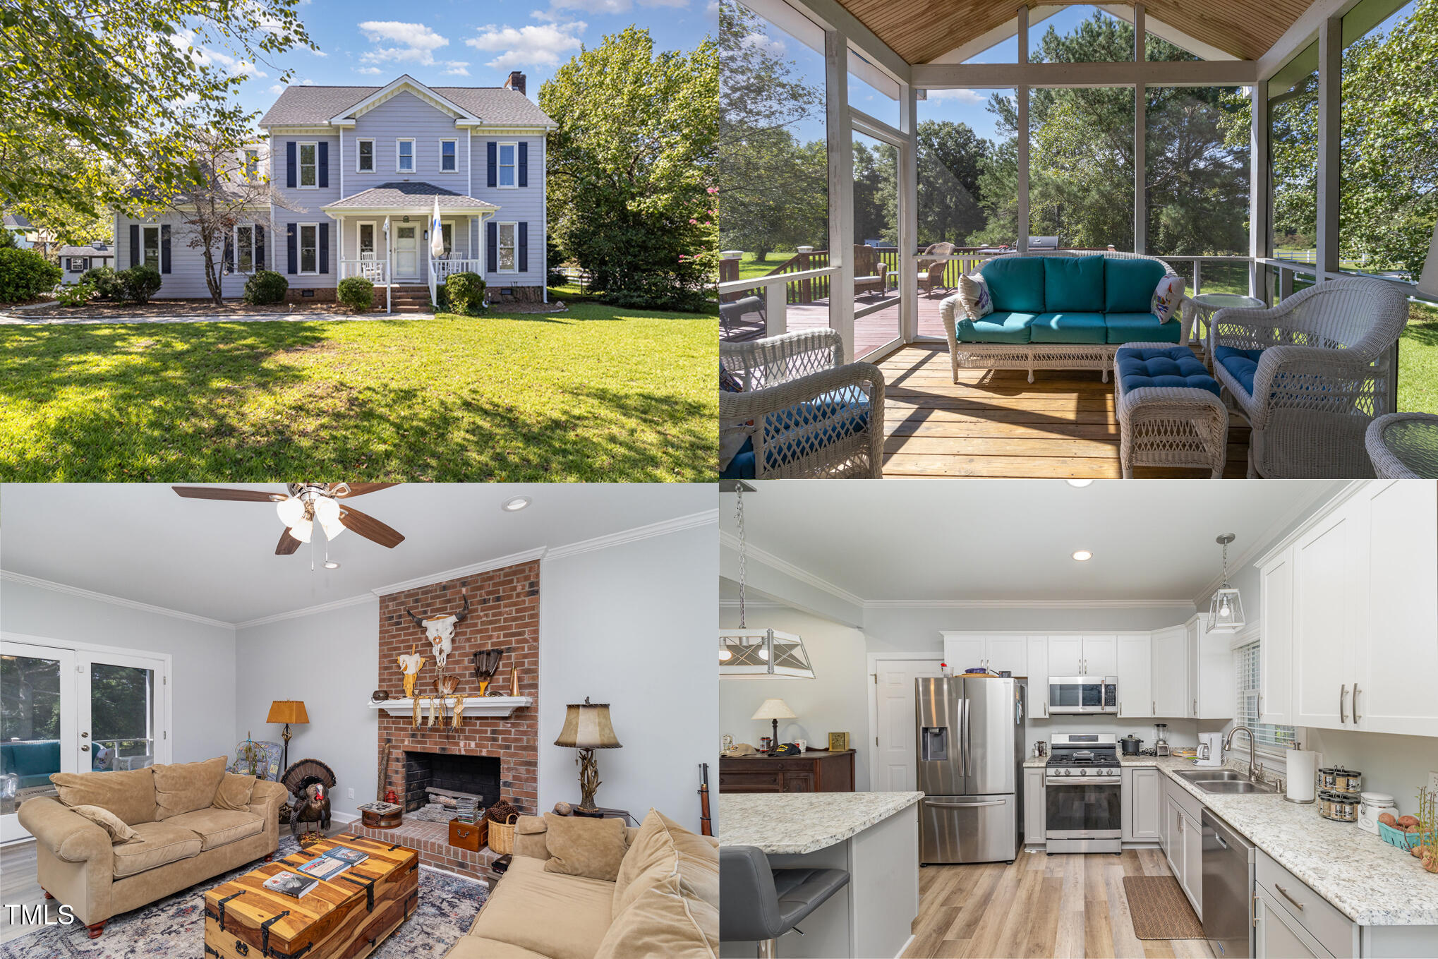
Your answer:
[[[283,837],[276,858],[296,853],[299,844]],[[105,935],[91,939],[79,923],[50,926],[0,945],[0,959],[204,959],[204,893],[253,864],[167,896],[158,903],[115,916]],[[424,956],[439,959],[475,923],[489,887],[476,880],[420,867],[420,904],[410,919],[372,953],[378,959]],[[53,906],[53,903],[52,903]]]

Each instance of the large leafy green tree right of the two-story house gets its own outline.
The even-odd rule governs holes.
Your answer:
[[[539,105],[549,138],[549,221],[605,302],[702,309],[713,226],[719,56],[713,40],[656,55],[626,27],[559,68]]]

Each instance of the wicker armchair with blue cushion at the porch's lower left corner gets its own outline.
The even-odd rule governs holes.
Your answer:
[[[884,375],[843,357],[833,329],[719,344],[720,367],[743,387],[719,391],[719,428],[749,436],[755,479],[883,476]]]

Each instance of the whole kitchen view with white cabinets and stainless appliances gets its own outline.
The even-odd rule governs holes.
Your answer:
[[[805,740],[751,766],[854,752],[853,794],[731,792],[720,759],[722,854],[759,818],[857,827],[775,857],[846,876],[772,955],[1438,955],[1438,874],[1378,822],[1438,791],[1432,483],[966,486],[1025,510],[769,483],[741,543],[723,497],[720,634],[802,637],[812,679],[722,661],[720,732]],[[752,720],[766,699],[787,719]],[[765,947],[726,926],[720,955]]]

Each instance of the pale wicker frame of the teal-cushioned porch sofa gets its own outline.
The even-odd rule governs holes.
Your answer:
[[[1038,250],[1032,253],[999,253],[989,260],[1020,256],[1106,256],[1117,260],[1153,260],[1163,265],[1165,276],[1178,276],[1173,267],[1156,256],[1122,253],[1117,250]],[[988,263],[989,260],[984,260]],[[1123,344],[965,344],[958,336],[958,313],[963,305],[958,296],[951,296],[939,306],[943,319],[943,334],[949,338],[949,361],[953,368],[953,382],[959,381],[959,370],[1027,370],[1028,381],[1034,381],[1035,370],[1097,370],[1103,381],[1109,381],[1113,355]],[[1179,302],[1179,342],[1186,344],[1194,328],[1196,306],[1188,296]]]

